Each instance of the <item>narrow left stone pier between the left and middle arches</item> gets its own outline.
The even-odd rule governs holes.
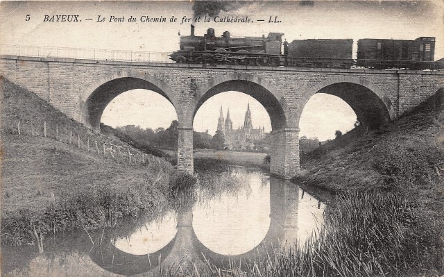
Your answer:
[[[178,128],[178,172],[194,173],[193,128]]]

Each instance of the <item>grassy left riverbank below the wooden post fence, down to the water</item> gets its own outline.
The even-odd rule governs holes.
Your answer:
[[[45,137],[2,139],[2,244],[35,244],[49,234],[158,212],[179,178],[162,159],[122,165]]]

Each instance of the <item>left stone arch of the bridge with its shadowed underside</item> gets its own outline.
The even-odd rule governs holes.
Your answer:
[[[173,105],[178,118],[182,115],[176,96],[167,84],[146,72],[123,70],[97,79],[80,93],[76,115],[78,121],[98,131],[101,115],[108,103],[117,95],[135,89],[157,92]]]

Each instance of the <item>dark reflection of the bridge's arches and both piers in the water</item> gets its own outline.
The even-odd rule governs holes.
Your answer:
[[[105,244],[96,245],[89,252],[89,257],[103,269],[114,274],[134,275],[148,272],[155,275],[159,267],[173,269],[173,267],[193,267],[205,265],[205,259],[210,258],[216,267],[229,268],[230,261],[241,261],[241,270],[246,269],[245,261],[257,257],[257,251],[273,253],[273,246],[278,247],[296,237],[298,224],[298,190],[297,185],[277,178],[270,178],[270,217],[271,223],[264,240],[254,249],[241,255],[221,255],[207,249],[199,242],[193,229],[192,210],[182,211],[178,214],[178,233],[167,246],[160,251],[149,255],[133,255],[117,249],[112,244],[112,235],[108,233]],[[290,210],[290,212],[289,212]],[[288,245],[288,244],[287,244]],[[273,250],[273,251],[272,251]],[[204,258],[205,257],[205,258]],[[159,260],[161,258],[161,260]],[[151,266],[150,262],[151,261]],[[160,262],[159,262],[160,261]]]

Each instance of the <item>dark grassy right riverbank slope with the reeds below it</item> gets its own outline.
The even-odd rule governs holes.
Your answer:
[[[366,251],[373,255],[370,261],[377,261],[374,265],[382,268],[381,271],[368,271],[372,276],[444,274],[442,103],[442,95],[432,97],[409,115],[386,124],[382,130],[373,131],[346,146],[333,142],[313,151],[301,165],[305,174],[295,176],[293,182],[338,195],[327,207],[327,215],[330,209],[335,209],[336,214],[330,210],[330,219],[327,217],[326,221],[334,224],[326,227],[332,235],[326,234],[325,239],[332,239],[337,230],[350,231],[348,240],[336,237],[341,250],[339,260],[347,260],[357,253],[364,255],[364,250],[368,249]],[[392,202],[391,199],[398,200]],[[384,205],[375,208],[375,202]],[[386,210],[391,212],[387,214]],[[340,215],[337,215],[338,211]],[[367,221],[361,222],[361,218]],[[365,240],[361,236],[363,240],[357,243],[355,239],[359,232],[352,230],[359,231],[363,226],[367,226]],[[388,226],[399,228],[395,232]],[[373,233],[374,230],[379,231]],[[393,240],[398,245],[376,244],[381,238],[393,234],[396,234]],[[391,249],[398,258],[388,255],[384,249]],[[334,251],[327,254],[332,253]],[[393,267],[396,262],[398,265]],[[336,274],[339,274],[338,270],[355,267],[353,263],[343,268],[334,268],[334,263],[327,261],[325,264],[330,265],[327,269]],[[367,271],[364,265],[361,266],[364,274]]]

